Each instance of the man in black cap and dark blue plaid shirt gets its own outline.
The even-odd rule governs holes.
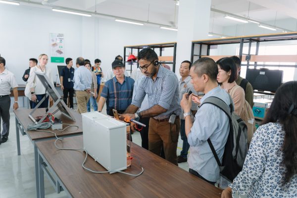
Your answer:
[[[112,109],[123,113],[132,102],[134,80],[124,75],[125,67],[122,61],[114,60],[111,64],[114,77],[108,80],[101,92],[98,110],[101,112],[106,101],[106,112],[113,116]]]

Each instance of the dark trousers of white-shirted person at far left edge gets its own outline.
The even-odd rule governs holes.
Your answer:
[[[2,138],[8,138],[9,134],[9,108],[10,108],[10,97],[5,96],[0,98],[0,117],[2,119]],[[0,119],[0,130],[1,130],[1,119]]]

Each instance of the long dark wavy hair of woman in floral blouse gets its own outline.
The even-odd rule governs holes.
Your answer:
[[[282,184],[285,185],[297,174],[297,81],[287,82],[277,89],[262,124],[269,122],[280,123],[285,131],[282,146],[282,164],[286,167]]]

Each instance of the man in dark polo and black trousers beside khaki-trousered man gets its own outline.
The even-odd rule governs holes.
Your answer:
[[[73,83],[73,76],[74,76],[74,68],[72,58],[66,58],[65,60],[66,66],[63,67],[61,74],[60,74],[60,83],[61,83],[61,90],[63,91],[63,100],[67,105],[67,98],[69,93],[69,102],[70,108],[73,109],[73,94],[74,94],[74,83]]]

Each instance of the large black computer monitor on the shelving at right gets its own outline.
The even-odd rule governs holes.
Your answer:
[[[246,79],[254,90],[276,92],[283,82],[282,70],[247,69]]]

